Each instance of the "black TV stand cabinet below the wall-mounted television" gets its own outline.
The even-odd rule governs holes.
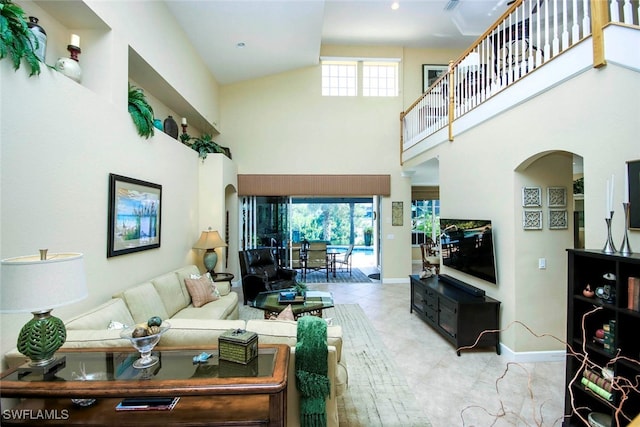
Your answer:
[[[436,332],[456,347],[472,346],[482,331],[476,347],[495,346],[500,354],[500,301],[484,294],[482,289],[447,275],[411,279],[411,309]]]

